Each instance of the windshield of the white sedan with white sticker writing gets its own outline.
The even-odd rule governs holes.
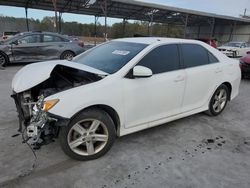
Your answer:
[[[110,41],[77,56],[73,61],[112,74],[120,70],[146,46],[139,43]]]

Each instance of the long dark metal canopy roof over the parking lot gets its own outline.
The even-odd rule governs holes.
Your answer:
[[[0,0],[0,5],[27,7],[53,11],[51,0]],[[60,0],[57,1],[59,12],[104,16],[104,0]],[[250,24],[250,19],[236,18],[206,12],[170,7],[138,0],[107,0],[107,16],[131,20],[150,21],[150,15],[154,13],[154,22],[174,23],[183,25],[186,15],[188,24],[207,24],[208,19],[214,19],[219,24]]]

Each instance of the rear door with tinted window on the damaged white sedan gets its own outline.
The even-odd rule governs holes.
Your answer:
[[[182,112],[202,107],[210,99],[223,72],[222,64],[199,44],[181,44],[187,74]]]

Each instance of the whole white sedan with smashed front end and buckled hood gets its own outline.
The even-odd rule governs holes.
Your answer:
[[[109,41],[75,57],[27,65],[13,78],[19,131],[34,147],[59,138],[77,160],[117,136],[206,111],[238,94],[239,63],[209,45],[169,38]]]

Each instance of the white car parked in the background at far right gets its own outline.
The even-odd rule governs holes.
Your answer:
[[[229,57],[242,57],[250,51],[250,46],[246,42],[228,42],[218,47],[218,50]]]

